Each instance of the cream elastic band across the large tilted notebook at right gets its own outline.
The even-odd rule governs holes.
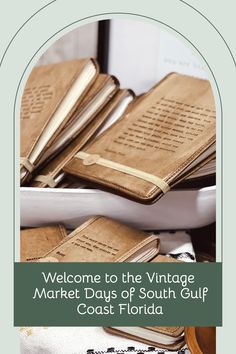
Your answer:
[[[151,182],[158,188],[162,190],[163,193],[166,193],[170,190],[168,183],[166,183],[162,178],[152,175],[151,173],[147,173],[144,171],[137,170],[136,168],[132,168],[111,160],[104,159],[96,154],[88,154],[84,151],[79,151],[75,157],[83,160],[83,164],[86,166],[89,165],[100,165],[104,167],[111,168],[113,170],[126,173],[128,175],[140,178],[144,181]]]

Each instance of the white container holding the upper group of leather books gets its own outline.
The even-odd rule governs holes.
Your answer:
[[[21,226],[62,223],[76,228],[105,215],[143,230],[183,230],[215,221],[216,187],[172,190],[143,205],[96,189],[21,188]]]

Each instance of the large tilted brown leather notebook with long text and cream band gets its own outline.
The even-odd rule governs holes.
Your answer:
[[[215,156],[215,123],[210,83],[172,73],[64,170],[135,201],[153,203]]]

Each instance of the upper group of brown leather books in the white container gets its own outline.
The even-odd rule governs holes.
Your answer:
[[[154,203],[215,175],[210,83],[173,73],[135,97],[94,59],[36,67],[22,99],[20,162],[22,186],[91,186]]]

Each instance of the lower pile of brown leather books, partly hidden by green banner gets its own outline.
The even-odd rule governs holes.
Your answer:
[[[62,225],[21,230],[21,262],[174,262],[160,254],[160,238],[104,216],[67,234]],[[179,350],[183,327],[108,327],[105,330],[148,345]]]

